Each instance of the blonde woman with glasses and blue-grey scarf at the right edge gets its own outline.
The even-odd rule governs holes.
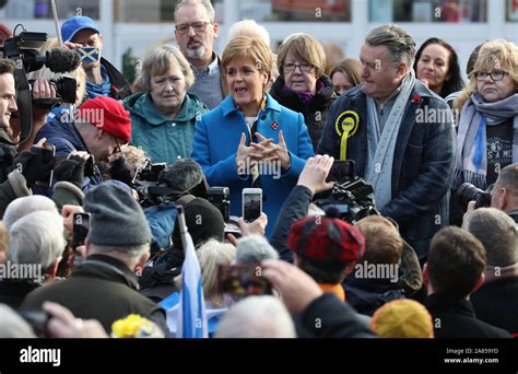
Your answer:
[[[518,47],[503,39],[479,50],[468,87],[454,102],[460,112],[454,191],[462,183],[485,189],[518,162]],[[452,203],[460,223],[464,207]]]

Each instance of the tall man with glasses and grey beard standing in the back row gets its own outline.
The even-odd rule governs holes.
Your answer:
[[[181,0],[175,8],[175,25],[176,42],[196,78],[188,92],[212,109],[227,94],[220,57],[213,49],[220,28],[214,8],[208,0]]]

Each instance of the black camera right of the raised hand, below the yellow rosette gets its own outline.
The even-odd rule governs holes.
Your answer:
[[[354,161],[348,160],[348,174],[342,173],[334,184],[331,196],[314,201],[317,207],[326,210],[334,207],[342,221],[354,223],[361,219],[379,214],[374,200],[374,188],[355,173]]]

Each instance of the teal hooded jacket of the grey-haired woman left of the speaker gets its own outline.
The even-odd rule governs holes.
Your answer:
[[[152,162],[173,164],[192,152],[195,124],[208,109],[201,101],[186,94],[175,119],[167,119],[149,93],[131,95],[122,102],[131,116],[131,144],[142,148]]]

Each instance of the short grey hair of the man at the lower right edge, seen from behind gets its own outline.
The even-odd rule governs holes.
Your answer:
[[[517,261],[517,227],[502,210],[480,208],[469,214],[464,224],[485,247],[488,266],[506,267]]]

